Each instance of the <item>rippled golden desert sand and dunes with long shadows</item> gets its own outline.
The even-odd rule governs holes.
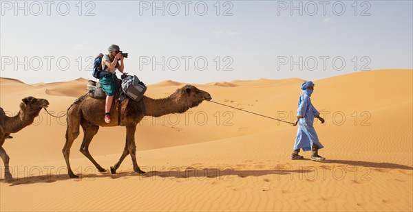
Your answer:
[[[412,211],[413,70],[354,72],[315,80],[315,123],[327,159],[291,161],[297,127],[212,102],[180,115],[147,117],[138,126],[135,174],[128,156],[118,174],[100,174],[79,148],[68,178],[61,149],[65,117],[43,110],[32,126],[3,148],[15,181],[1,162],[0,211]],[[304,80],[235,80],[194,84],[213,100],[295,121]],[[0,106],[9,115],[23,97],[50,102],[63,115],[86,93],[87,80],[24,84],[0,79]],[[149,97],[166,97],[185,83],[151,84]],[[90,152],[105,168],[123,151],[125,128],[100,128]]]

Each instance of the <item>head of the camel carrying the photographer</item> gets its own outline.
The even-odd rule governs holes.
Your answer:
[[[212,97],[208,92],[197,89],[195,86],[187,84],[181,89],[178,89],[180,101],[187,102],[189,108],[198,106],[204,100],[211,100]]]

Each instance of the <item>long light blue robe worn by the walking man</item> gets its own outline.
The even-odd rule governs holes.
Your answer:
[[[308,93],[303,91],[303,94],[299,97],[297,109],[297,116],[303,118],[298,121],[297,138],[295,139],[294,150],[311,150],[313,143],[317,145],[319,149],[324,148],[313,127],[314,117],[319,116],[319,114],[320,113],[315,109],[313,104],[311,104]]]

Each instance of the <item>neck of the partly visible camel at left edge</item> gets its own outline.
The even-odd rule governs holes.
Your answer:
[[[3,130],[7,133],[15,133],[19,132],[21,129],[29,126],[34,121],[35,115],[32,114],[25,114],[22,110],[19,110],[19,113],[14,117],[6,117],[5,124]]]

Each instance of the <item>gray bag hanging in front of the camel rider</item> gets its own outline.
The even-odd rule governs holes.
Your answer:
[[[127,77],[122,80],[123,93],[136,102],[142,99],[146,90],[147,86],[141,82],[136,75],[127,75]]]

